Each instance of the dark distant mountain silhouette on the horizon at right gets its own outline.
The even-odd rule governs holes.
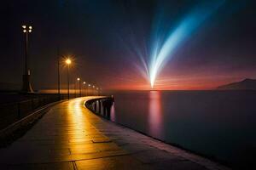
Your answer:
[[[241,82],[232,82],[230,84],[225,84],[219,86],[218,89],[224,90],[256,90],[256,80],[255,79],[244,79]]]

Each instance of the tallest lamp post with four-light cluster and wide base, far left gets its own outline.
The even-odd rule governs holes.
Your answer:
[[[28,58],[28,34],[32,32],[32,26],[22,26],[23,32],[25,33],[26,36],[26,41],[25,41],[25,71],[23,75],[23,86],[22,86],[22,91],[26,93],[33,93],[32,85],[30,82],[30,70],[28,68],[28,63],[27,63],[27,58]]]

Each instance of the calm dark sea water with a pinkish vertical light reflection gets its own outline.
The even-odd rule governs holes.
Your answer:
[[[230,165],[256,148],[256,91],[114,94],[111,120]]]

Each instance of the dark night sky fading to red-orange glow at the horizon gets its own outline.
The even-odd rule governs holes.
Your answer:
[[[57,87],[57,51],[73,56],[72,81],[103,89],[149,89],[143,63],[150,60],[154,28],[165,39],[189,11],[208,1],[44,0],[1,2],[0,83],[21,86],[24,34],[29,41],[33,87]],[[217,1],[216,1],[217,2]],[[212,4],[207,4],[212,5]],[[156,89],[212,89],[256,78],[256,4],[221,1],[166,60]],[[67,82],[61,66],[61,84]]]

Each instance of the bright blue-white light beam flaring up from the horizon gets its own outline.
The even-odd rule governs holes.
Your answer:
[[[154,40],[154,48],[151,53],[150,63],[148,65],[149,81],[151,88],[154,88],[154,82],[161,69],[167,63],[167,59],[171,59],[175,50],[182,42],[191,37],[191,34],[207,20],[224,1],[218,3],[205,3],[195,8],[189,13],[177,28],[172,31],[166,40],[160,43],[160,39]],[[160,47],[160,44],[161,47]]]

